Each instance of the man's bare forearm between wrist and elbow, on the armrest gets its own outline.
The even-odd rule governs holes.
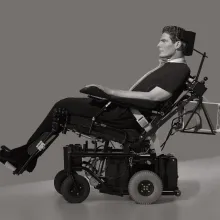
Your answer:
[[[137,92],[137,91],[111,89],[111,95],[122,97],[122,98],[146,99],[146,100],[151,100],[151,101],[154,100],[152,95],[149,92]]]

